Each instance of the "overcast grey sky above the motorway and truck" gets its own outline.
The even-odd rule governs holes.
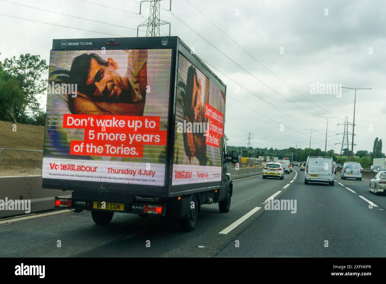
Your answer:
[[[0,0],[0,60],[31,53],[48,63],[52,39],[134,37],[145,20],[138,15],[138,2]],[[168,8],[169,0],[161,5]],[[142,9],[145,17],[148,7]],[[352,122],[354,90],[310,94],[310,86],[319,82],[372,88],[357,91],[354,152],[372,151],[377,136],[386,138],[385,10],[383,0],[174,0],[172,12],[161,9],[161,19],[171,22],[171,35],[194,48],[227,85],[229,145],[244,146],[250,132],[254,147],[305,148],[310,139],[305,128],[313,128],[318,130],[312,133],[311,147],[324,150],[326,119],[318,116],[328,116],[337,118],[329,120],[327,150],[339,153],[342,135],[336,134],[343,126],[337,124],[344,123],[345,116]],[[168,30],[163,26],[161,34]],[[43,95],[44,106],[45,99]]]

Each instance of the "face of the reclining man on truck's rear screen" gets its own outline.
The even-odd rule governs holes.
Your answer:
[[[99,99],[115,99],[128,95],[127,82],[117,72],[117,63],[108,58],[108,66],[99,64],[91,59],[90,70],[86,85],[95,85],[95,92],[91,97]]]

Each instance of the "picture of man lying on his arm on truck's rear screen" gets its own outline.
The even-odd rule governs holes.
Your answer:
[[[147,51],[134,50],[128,56],[125,77],[115,60],[98,54],[81,54],[71,64],[69,79],[78,85],[76,97],[69,96],[73,114],[142,116],[146,99]]]

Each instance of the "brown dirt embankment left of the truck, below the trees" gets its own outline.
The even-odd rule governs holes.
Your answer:
[[[14,124],[0,121],[0,148],[43,150],[44,126]],[[40,175],[42,158],[42,152],[3,150],[0,175]]]

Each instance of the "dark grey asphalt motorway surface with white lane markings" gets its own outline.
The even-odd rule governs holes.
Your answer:
[[[0,219],[0,256],[386,257],[384,194],[368,192],[367,180],[340,175],[334,187],[305,185],[304,173],[294,169],[284,180],[234,180],[229,213],[202,206],[191,233],[157,216],[132,214],[115,213],[109,226],[98,226],[86,211]],[[296,200],[296,213],[266,211],[269,198]]]

